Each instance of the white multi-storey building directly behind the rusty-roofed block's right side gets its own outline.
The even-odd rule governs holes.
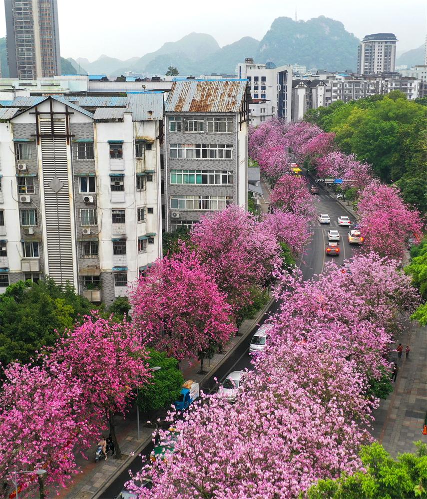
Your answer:
[[[253,59],[246,59],[244,63],[237,65],[237,77],[248,80],[252,99],[271,102],[270,106],[260,106],[263,109],[265,107],[266,112],[258,115],[258,110],[251,106],[252,126],[259,125],[264,116],[266,119],[270,116],[282,118],[286,123],[291,121],[292,66],[275,67],[272,63],[258,64]]]

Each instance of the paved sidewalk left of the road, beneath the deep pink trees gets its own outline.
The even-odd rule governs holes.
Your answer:
[[[267,303],[255,319],[245,320],[242,323],[239,327],[239,336],[235,336],[232,341],[230,341],[226,346],[224,353],[215,354],[210,361],[205,360],[203,369],[207,371],[207,374],[197,374],[200,369],[200,361],[197,359],[193,359],[191,364],[189,361],[182,361],[180,369],[184,379],[192,379],[201,384],[205,379],[212,376],[213,372],[227,360],[234,349],[246,336],[248,336],[253,327],[261,320],[272,301],[273,299]],[[157,413],[157,415],[153,415],[150,421],[156,421],[164,411],[157,411]],[[58,491],[57,497],[61,499],[91,499],[98,497],[101,492],[123,472],[123,470],[129,468],[134,456],[138,455],[142,449],[150,443],[154,428],[153,425],[148,427],[144,426],[144,424],[146,424],[146,421],[141,419],[140,440],[138,440],[136,408],[134,407],[132,411],[126,415],[126,419],[116,416],[116,433],[123,454],[122,460],[119,461],[114,459],[114,457],[108,456],[107,461],[102,460],[99,463],[95,463],[94,455],[96,445],[94,445],[92,449],[89,449],[85,453],[88,459],[84,459],[80,455],[77,456],[76,461],[80,467],[80,473],[73,478],[66,489],[60,489]]]

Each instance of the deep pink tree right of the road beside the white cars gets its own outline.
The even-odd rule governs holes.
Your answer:
[[[422,233],[419,212],[405,205],[396,187],[372,182],[360,195],[358,213],[364,247],[389,258],[401,260],[408,238]]]

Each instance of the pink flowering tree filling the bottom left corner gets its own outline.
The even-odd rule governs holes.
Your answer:
[[[39,366],[9,364],[0,394],[1,497],[14,492],[12,479],[19,483],[19,497],[33,494],[37,477],[15,477],[15,471],[46,470],[38,477],[40,497],[44,486],[51,497],[77,473],[77,443],[79,449],[89,447],[94,436],[85,411],[74,403],[81,396],[79,383],[70,383],[62,371],[52,376]]]

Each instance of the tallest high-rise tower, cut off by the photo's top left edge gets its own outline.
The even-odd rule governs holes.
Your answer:
[[[11,78],[60,74],[57,0],[4,0]]]

